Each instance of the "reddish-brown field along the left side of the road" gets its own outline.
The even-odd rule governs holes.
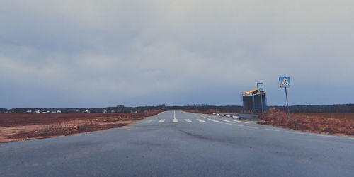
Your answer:
[[[0,114],[0,142],[107,130],[161,113]]]

